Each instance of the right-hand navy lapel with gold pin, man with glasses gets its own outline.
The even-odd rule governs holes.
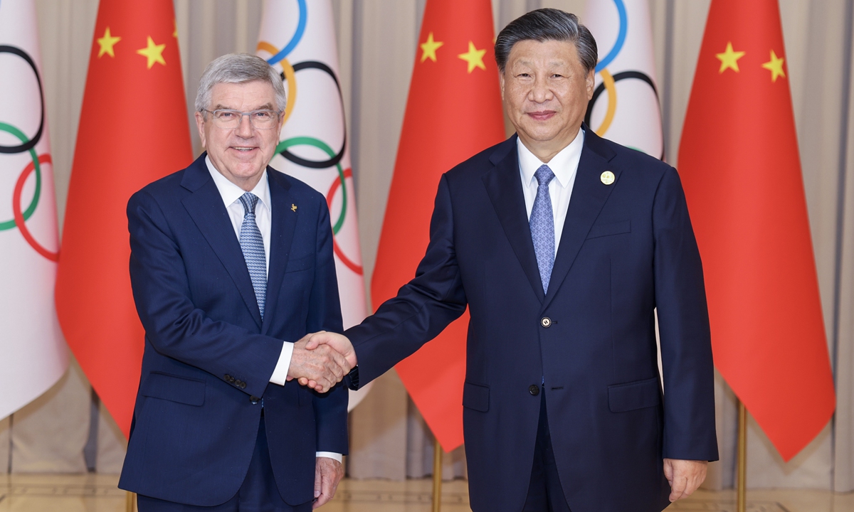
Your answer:
[[[267,176],[270,183],[270,201],[272,226],[270,229],[270,272],[267,276],[267,294],[264,309],[267,314],[264,315],[264,323],[261,326],[261,334],[266,334],[270,329],[272,311],[276,309],[279,290],[282,288],[282,280],[284,279],[284,270],[288,266],[290,258],[290,245],[294,240],[294,231],[296,229],[296,219],[299,215],[299,208],[292,209],[292,205],[296,205],[296,201],[290,195],[290,183],[285,179],[284,175],[274,171],[271,167],[267,167]]]

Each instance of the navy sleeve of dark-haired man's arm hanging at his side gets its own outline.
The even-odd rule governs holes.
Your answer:
[[[664,457],[715,461],[714,369],[703,266],[672,167],[658,184],[652,225],[664,374]]]

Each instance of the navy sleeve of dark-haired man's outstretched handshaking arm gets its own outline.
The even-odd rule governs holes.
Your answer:
[[[451,193],[442,175],[430,219],[430,243],[415,277],[371,317],[344,333],[359,359],[357,385],[383,375],[435,338],[463,314],[466,304],[453,245]]]

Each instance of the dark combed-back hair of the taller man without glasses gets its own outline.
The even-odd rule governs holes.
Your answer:
[[[513,45],[525,40],[574,43],[584,71],[590,73],[596,67],[596,39],[588,27],[578,22],[576,15],[560,9],[536,9],[508,23],[495,38],[495,62],[501,73],[504,73]]]

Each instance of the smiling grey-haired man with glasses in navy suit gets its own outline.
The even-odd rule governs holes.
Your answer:
[[[266,61],[219,57],[196,96],[206,151],[128,202],[145,349],[119,486],[141,512],[311,510],[342,477],[350,367],[301,340],[342,329],[330,218],[267,166],[284,107]]]

